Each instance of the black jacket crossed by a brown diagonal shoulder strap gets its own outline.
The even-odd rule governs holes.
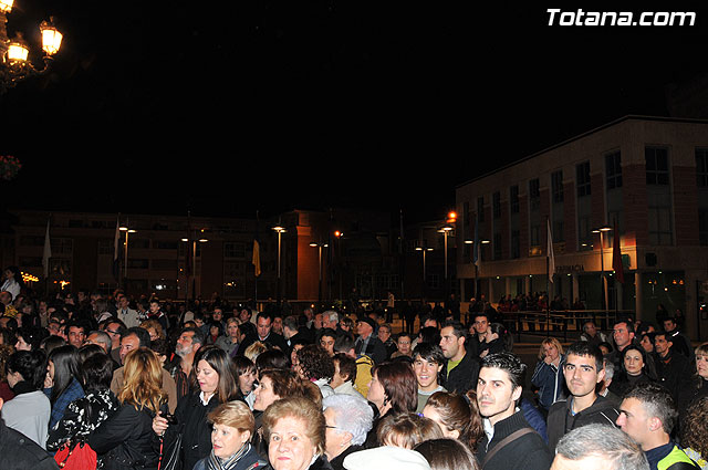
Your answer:
[[[494,436],[489,441],[487,435],[482,436],[477,446],[477,460],[485,461],[487,452],[512,432],[530,428],[529,422],[521,411],[514,412],[509,418],[494,425]],[[485,470],[549,470],[553,455],[538,432],[530,432],[517,440],[509,442],[500,449],[483,467]]]

